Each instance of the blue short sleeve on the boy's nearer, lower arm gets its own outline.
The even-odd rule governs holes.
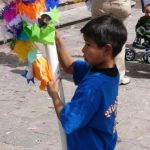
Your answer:
[[[85,127],[94,116],[97,96],[93,89],[78,90],[70,103],[67,103],[60,113],[61,124],[67,134]]]

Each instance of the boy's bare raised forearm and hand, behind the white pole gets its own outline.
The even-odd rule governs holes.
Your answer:
[[[64,69],[66,73],[72,74],[73,73],[73,59],[67,52],[63,40],[61,36],[56,32],[55,34],[55,40],[56,40],[56,48],[58,53],[58,59],[60,62],[60,65]]]

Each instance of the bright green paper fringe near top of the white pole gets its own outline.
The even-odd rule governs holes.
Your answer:
[[[47,14],[43,14],[43,15],[48,16]],[[59,15],[56,8],[54,8],[51,9],[49,18],[43,17],[42,20],[43,22],[40,21],[39,19],[40,25],[36,23],[33,23],[32,25],[28,25],[27,22],[23,21],[23,31],[29,37],[29,39],[34,42],[53,45],[55,43],[54,23],[57,22],[58,20],[59,20]]]

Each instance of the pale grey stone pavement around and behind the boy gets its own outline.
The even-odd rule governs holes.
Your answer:
[[[140,9],[132,9],[128,45],[134,40],[134,26],[141,15]],[[75,59],[82,59],[79,31],[84,23],[59,29]],[[131,83],[119,89],[116,150],[150,150],[150,65],[143,63],[143,52],[137,50],[136,60],[126,62]],[[26,62],[20,63],[10,53],[7,44],[0,46],[0,150],[61,150],[53,104],[47,93],[39,90],[38,81],[28,85],[21,77],[26,67]],[[63,77],[65,98],[69,101],[76,87],[71,76]]]

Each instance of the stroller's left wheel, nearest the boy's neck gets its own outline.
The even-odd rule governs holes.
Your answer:
[[[125,51],[125,60],[126,61],[133,61],[135,58],[135,51],[131,48],[126,48]]]

